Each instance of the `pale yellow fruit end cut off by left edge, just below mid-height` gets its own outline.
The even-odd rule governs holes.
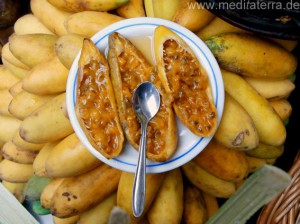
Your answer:
[[[15,117],[0,115],[0,140],[3,142],[12,140],[20,124],[21,121]]]

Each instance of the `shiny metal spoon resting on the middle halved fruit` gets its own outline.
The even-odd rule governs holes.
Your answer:
[[[132,107],[141,123],[141,139],[139,158],[134,177],[132,210],[135,217],[140,217],[144,211],[146,193],[146,145],[147,126],[155,116],[160,106],[160,95],[151,82],[140,84],[132,97]]]

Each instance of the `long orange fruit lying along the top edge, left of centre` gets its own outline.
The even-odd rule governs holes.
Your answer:
[[[116,9],[129,0],[48,0],[53,6],[68,12],[82,11],[110,11]]]

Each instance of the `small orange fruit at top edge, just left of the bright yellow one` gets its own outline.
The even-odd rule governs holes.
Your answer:
[[[116,12],[124,18],[145,17],[144,1],[130,0],[125,5],[116,9]]]

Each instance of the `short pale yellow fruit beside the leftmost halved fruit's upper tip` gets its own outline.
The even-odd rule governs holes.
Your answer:
[[[67,69],[71,68],[75,57],[81,50],[83,39],[83,36],[77,34],[66,34],[57,39],[56,55]]]

